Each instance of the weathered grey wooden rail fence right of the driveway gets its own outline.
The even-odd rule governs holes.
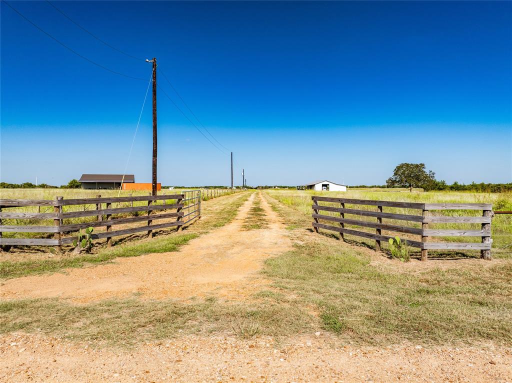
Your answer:
[[[420,241],[405,238],[401,240],[407,245],[421,249],[421,260],[426,261],[428,258],[429,249],[478,249],[480,250],[481,258],[490,260],[490,248],[492,240],[490,238],[490,224],[492,220],[492,204],[486,203],[414,203],[414,202],[392,202],[392,201],[373,201],[373,200],[357,200],[348,198],[329,198],[313,196],[313,228],[316,232],[318,229],[326,229],[339,232],[342,239],[344,234],[350,234],[362,238],[375,240],[375,251],[380,251],[381,241],[388,241],[390,236],[382,235],[382,230],[396,231],[401,233],[408,233],[411,235],[421,236]],[[336,206],[322,206],[319,202],[339,203]],[[345,205],[370,205],[376,206],[376,211],[360,210],[346,208]],[[384,212],[384,207],[398,208],[398,209],[417,209],[421,211],[421,215],[410,214],[397,214],[396,212]],[[431,210],[482,210],[481,216],[443,216],[431,215]],[[319,213],[323,211],[339,213],[339,217],[332,215],[325,215]],[[347,219],[345,215],[354,215],[362,217],[375,217],[376,222]],[[416,222],[418,227],[401,226],[396,224],[382,223],[382,219],[390,219],[396,221],[409,221]],[[337,222],[339,226],[332,226],[331,224],[324,224],[320,221]],[[481,224],[478,230],[466,229],[429,229],[430,223],[450,223],[450,224]],[[375,228],[375,233],[367,231],[354,230],[346,228],[345,225],[361,226]],[[421,225],[421,227],[419,227]],[[481,243],[470,242],[431,242],[432,237],[481,237]]]

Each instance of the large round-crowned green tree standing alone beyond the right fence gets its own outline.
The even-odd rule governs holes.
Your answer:
[[[388,187],[407,187],[410,192],[415,187],[431,190],[436,185],[435,173],[426,171],[424,163],[401,163],[395,167],[393,176],[388,178]]]

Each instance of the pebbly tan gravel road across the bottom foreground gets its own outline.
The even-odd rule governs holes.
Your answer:
[[[505,383],[512,381],[512,352],[356,347],[327,334],[294,337],[286,344],[271,338],[184,336],[116,350],[10,334],[0,337],[0,381]]]

